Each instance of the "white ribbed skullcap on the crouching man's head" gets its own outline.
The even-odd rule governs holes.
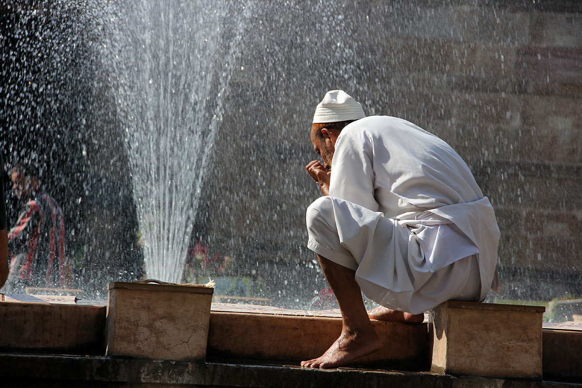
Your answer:
[[[365,118],[359,102],[343,90],[330,90],[315,108],[313,123],[359,120]]]

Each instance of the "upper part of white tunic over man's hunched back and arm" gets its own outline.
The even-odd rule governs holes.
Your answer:
[[[409,219],[483,197],[466,163],[413,123],[370,116],[347,125],[333,155],[329,194]]]

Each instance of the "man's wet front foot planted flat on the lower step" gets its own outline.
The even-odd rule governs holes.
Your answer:
[[[301,361],[301,368],[338,368],[382,347],[382,341],[372,329],[366,333],[343,332],[321,357]]]

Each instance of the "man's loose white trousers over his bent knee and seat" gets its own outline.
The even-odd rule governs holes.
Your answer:
[[[381,212],[335,197],[321,197],[307,209],[308,247],[355,270],[370,299],[413,314],[445,300],[477,301],[476,255],[433,271],[418,236]]]

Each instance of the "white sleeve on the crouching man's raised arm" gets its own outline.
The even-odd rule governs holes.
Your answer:
[[[356,136],[362,137],[356,139]],[[342,131],[335,144],[329,195],[378,211],[374,198],[372,147],[363,133]]]

